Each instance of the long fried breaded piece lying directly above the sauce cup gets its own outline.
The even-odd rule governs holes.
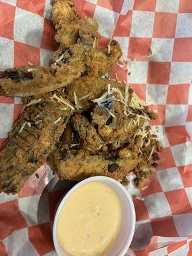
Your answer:
[[[67,147],[58,144],[49,155],[48,161],[60,179],[83,180],[88,177],[105,175],[113,179],[123,179],[127,172],[140,162],[140,159],[124,156],[119,152],[115,154],[91,154],[79,150],[68,150]]]

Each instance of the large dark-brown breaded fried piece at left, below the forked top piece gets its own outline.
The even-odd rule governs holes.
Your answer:
[[[67,102],[63,93],[57,93]],[[10,132],[0,153],[0,192],[18,193],[24,182],[45,163],[66,127],[72,109],[52,93],[33,99]],[[61,108],[65,107],[65,111]]]

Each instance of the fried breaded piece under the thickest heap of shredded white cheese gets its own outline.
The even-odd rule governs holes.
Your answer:
[[[67,87],[70,102],[76,93],[79,111],[90,111],[102,141],[115,143],[130,140],[145,123],[154,118],[145,103],[125,83],[97,77],[81,77]],[[90,110],[89,110],[90,109]]]

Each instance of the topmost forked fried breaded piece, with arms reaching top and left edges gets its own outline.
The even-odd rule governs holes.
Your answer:
[[[65,87],[81,76],[103,76],[122,56],[115,40],[100,48],[98,24],[90,18],[79,19],[74,3],[54,1],[53,21],[60,47],[54,52],[50,68],[29,65],[10,68],[0,74],[0,93],[10,97],[43,95]]]

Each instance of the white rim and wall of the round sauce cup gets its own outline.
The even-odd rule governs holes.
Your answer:
[[[54,247],[56,249],[56,253],[58,254],[58,256],[68,256],[68,254],[64,252],[63,249],[60,247],[60,244],[58,243],[58,239],[57,239],[57,224],[58,224],[58,217],[60,215],[60,211],[63,205],[65,204],[67,198],[74,192],[74,190],[76,190],[83,184],[86,184],[87,182],[93,182],[93,181],[102,182],[104,184],[107,184],[109,187],[111,187],[115,191],[116,195],[118,196],[121,207],[122,207],[122,223],[120,227],[120,232],[116,237],[116,242],[113,245],[113,248],[107,253],[106,256],[124,256],[127,250],[129,249],[129,246],[132,241],[132,237],[134,235],[134,228],[136,223],[135,210],[134,210],[134,204],[132,202],[132,198],[127,192],[127,190],[124,188],[124,186],[120,184],[120,182],[114,179],[111,179],[109,177],[96,176],[96,177],[91,177],[79,182],[76,186],[70,189],[70,191],[68,191],[67,195],[65,195],[63,200],[61,200],[58,210],[56,211],[56,215],[54,218],[53,231],[52,231]]]

